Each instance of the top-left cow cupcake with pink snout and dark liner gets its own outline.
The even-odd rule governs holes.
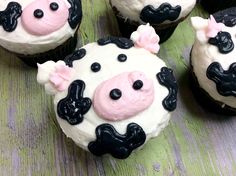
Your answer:
[[[73,52],[82,18],[80,0],[0,3],[0,45],[36,66]]]

